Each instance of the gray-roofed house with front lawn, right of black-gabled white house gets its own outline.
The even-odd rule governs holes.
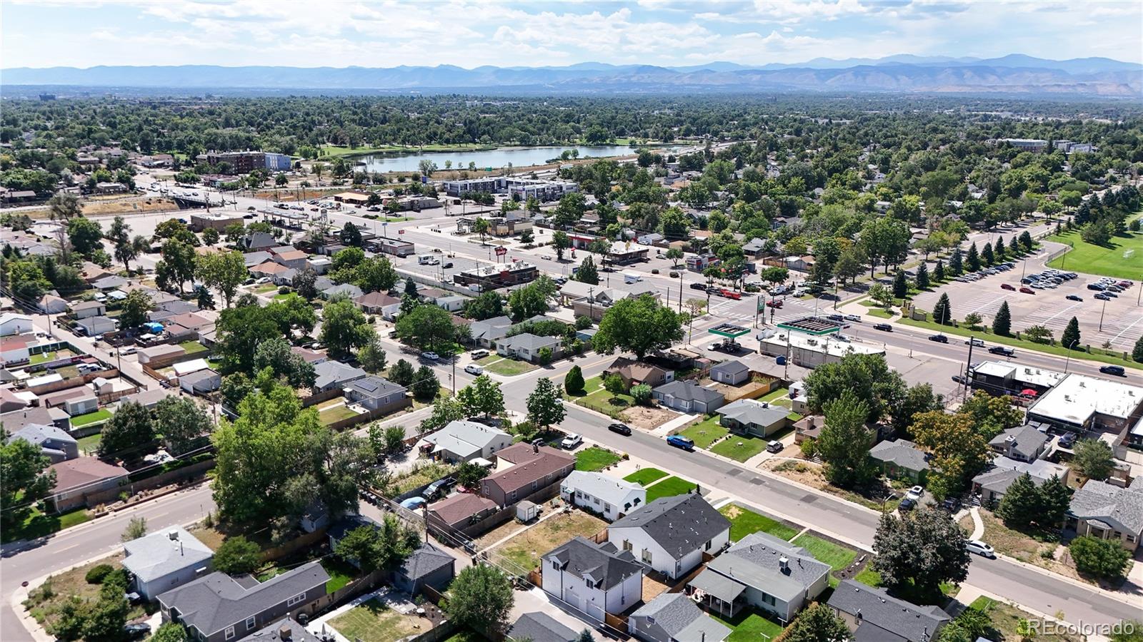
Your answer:
[[[708,562],[688,587],[722,617],[750,605],[790,621],[830,585],[830,564],[766,532],[753,532]]]

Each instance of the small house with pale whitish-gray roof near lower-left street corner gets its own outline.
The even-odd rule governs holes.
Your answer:
[[[123,544],[123,568],[147,601],[205,575],[214,551],[183,527],[171,527]]]

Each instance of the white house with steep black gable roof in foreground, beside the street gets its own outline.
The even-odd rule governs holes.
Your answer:
[[[661,497],[614,522],[607,540],[677,579],[726,546],[730,521],[697,492]]]

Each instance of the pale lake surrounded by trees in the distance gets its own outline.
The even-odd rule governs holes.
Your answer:
[[[441,170],[445,169],[445,161],[453,161],[453,169],[467,169],[470,162],[477,163],[478,169],[499,169],[507,163],[512,167],[528,167],[533,164],[544,164],[550,159],[559,158],[565,150],[577,150],[580,158],[593,157],[618,157],[633,154],[634,149],[626,145],[598,145],[598,146],[570,146],[570,147],[502,147],[497,150],[472,151],[472,152],[411,152],[400,154],[369,154],[357,157],[357,162],[365,163],[367,171],[417,171],[417,166],[423,159],[429,159],[437,163]],[[358,166],[360,169],[360,166]]]

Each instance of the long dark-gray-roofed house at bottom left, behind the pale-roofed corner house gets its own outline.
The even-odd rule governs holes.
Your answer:
[[[190,639],[226,642],[246,636],[286,615],[312,615],[326,595],[329,573],[318,562],[259,583],[213,572],[159,595],[162,621],[177,621]]]

